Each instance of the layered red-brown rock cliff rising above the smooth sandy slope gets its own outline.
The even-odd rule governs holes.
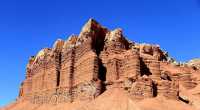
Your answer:
[[[133,100],[164,96],[180,100],[179,86],[199,85],[198,68],[175,65],[158,45],[127,40],[90,19],[79,35],[57,40],[27,65],[18,100],[34,104],[90,101],[112,88],[123,88]]]

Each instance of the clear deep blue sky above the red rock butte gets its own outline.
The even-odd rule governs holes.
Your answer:
[[[17,97],[29,56],[91,17],[178,61],[200,57],[200,0],[0,0],[0,106]]]

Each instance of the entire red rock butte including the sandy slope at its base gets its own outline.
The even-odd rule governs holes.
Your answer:
[[[199,65],[177,65],[159,45],[90,19],[79,35],[30,57],[19,97],[3,109],[199,110]]]

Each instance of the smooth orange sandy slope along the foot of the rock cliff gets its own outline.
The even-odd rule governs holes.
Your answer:
[[[199,87],[194,89],[200,90]],[[163,96],[135,101],[123,90],[113,88],[90,102],[36,105],[24,101],[13,103],[3,110],[200,110],[200,98],[189,94],[190,91],[186,92],[184,89],[182,91],[181,95],[189,97],[190,104],[178,100],[167,100]]]

